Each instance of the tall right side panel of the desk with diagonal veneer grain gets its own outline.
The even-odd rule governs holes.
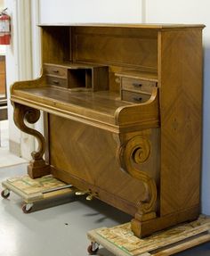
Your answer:
[[[161,58],[161,215],[199,203],[202,131],[200,29],[165,31]]]

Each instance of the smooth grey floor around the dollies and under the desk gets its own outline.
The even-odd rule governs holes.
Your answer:
[[[26,174],[27,163],[10,153],[7,158],[11,166],[1,162],[0,183],[6,178]],[[13,162],[16,165],[12,165]],[[24,214],[19,196],[11,193],[8,199],[0,198],[0,256],[85,256],[90,244],[86,238],[88,230],[115,226],[131,219],[97,200],[87,202],[81,197],[77,201],[68,200],[68,203],[45,209],[39,203],[35,207],[39,211]],[[52,202],[48,206],[52,206]],[[97,255],[114,256],[102,247]],[[210,243],[175,255],[209,256]]]

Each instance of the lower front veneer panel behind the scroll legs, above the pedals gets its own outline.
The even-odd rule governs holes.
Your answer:
[[[151,132],[143,134],[149,136],[152,143],[157,140],[157,136]],[[116,153],[117,143],[112,133],[50,115],[52,166],[68,172],[69,180],[73,184],[73,178],[78,178],[81,180],[80,187],[85,182],[86,189],[91,187],[97,191],[101,200],[111,202],[119,209],[124,207],[124,211],[131,214],[132,210],[126,209],[125,205],[128,202],[136,205],[137,202],[145,199],[145,188],[141,181],[132,178],[119,168]],[[153,151],[152,154],[154,156],[145,164],[144,169],[147,169],[149,175],[153,177],[157,176],[154,169],[158,167],[154,165],[157,152]],[[59,175],[59,172],[57,174]],[[106,191],[109,196],[102,196],[102,191]],[[119,202],[112,202],[113,196],[116,196]],[[125,202],[124,206],[122,201]]]

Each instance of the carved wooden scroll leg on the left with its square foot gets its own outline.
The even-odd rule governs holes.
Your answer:
[[[28,123],[34,124],[40,117],[40,111],[31,107],[21,105],[20,103],[12,103],[14,108],[13,119],[18,128],[21,131],[35,136],[38,142],[38,149],[31,153],[32,160],[28,165],[28,175],[30,178],[39,178],[44,175],[51,173],[50,165],[46,164],[43,155],[45,151],[44,136],[33,128],[28,128],[24,122],[27,120]]]

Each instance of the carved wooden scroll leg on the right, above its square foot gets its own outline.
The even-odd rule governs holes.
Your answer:
[[[135,219],[140,221],[156,217],[154,206],[157,201],[157,186],[154,178],[150,178],[146,171],[137,169],[142,163],[149,159],[149,140],[143,136],[133,136],[125,144],[118,148],[118,162],[120,167],[133,178],[143,182],[149,196],[145,202],[138,202],[138,211]]]

